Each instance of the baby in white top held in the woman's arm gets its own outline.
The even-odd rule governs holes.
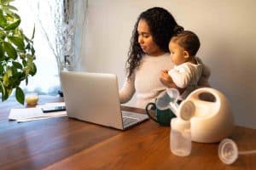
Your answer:
[[[200,48],[199,38],[192,31],[181,31],[169,42],[169,50],[174,68],[160,73],[160,81],[167,88],[177,88],[180,99],[185,99],[195,88],[206,67],[195,57]],[[184,90],[183,90],[184,89]]]

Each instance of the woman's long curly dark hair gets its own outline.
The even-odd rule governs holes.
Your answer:
[[[178,26],[176,20],[173,18],[165,8],[154,7],[148,8],[137,18],[137,22],[132,31],[131,45],[128,52],[128,59],[126,61],[126,71],[128,77],[131,77],[133,71],[140,65],[143,58],[143,49],[138,42],[137,26],[140,20],[145,20],[150,29],[153,41],[164,52],[169,52],[168,44],[177,31],[183,31],[182,26]]]

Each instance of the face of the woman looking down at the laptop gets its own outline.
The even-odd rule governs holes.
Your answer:
[[[148,23],[146,20],[139,20],[137,25],[137,33],[138,33],[138,42],[143,49],[143,52],[152,56],[159,56],[161,54],[165,54],[158,45],[153,41],[153,37],[151,35]]]

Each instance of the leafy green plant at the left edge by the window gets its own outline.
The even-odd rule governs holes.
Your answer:
[[[24,104],[25,95],[20,88],[20,82],[34,76],[37,67],[34,64],[35,50],[32,38],[26,37],[20,29],[18,9],[9,3],[14,0],[0,0],[0,94],[2,101],[9,98],[15,90],[15,97]]]

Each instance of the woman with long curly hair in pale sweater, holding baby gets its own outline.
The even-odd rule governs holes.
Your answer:
[[[149,8],[139,15],[126,62],[127,77],[119,91],[120,103],[137,93],[136,106],[144,109],[164,92],[160,72],[173,67],[168,44],[177,31],[183,31],[183,27],[164,8]]]

